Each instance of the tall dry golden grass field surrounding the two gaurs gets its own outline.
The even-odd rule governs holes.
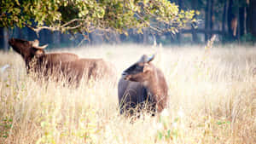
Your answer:
[[[38,83],[15,52],[0,52],[0,143],[256,143],[256,49],[237,44],[165,48],[102,45],[59,49],[103,58],[117,77],[141,55],[157,51],[165,73],[168,108],[134,123],[119,115],[117,86],[82,83],[79,88]]]

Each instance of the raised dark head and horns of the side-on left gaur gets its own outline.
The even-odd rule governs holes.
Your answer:
[[[39,57],[44,55],[44,49],[48,46],[39,46],[39,41],[36,39],[34,41],[26,41],[18,38],[9,39],[9,45],[22,55],[25,60],[31,60],[34,56]]]

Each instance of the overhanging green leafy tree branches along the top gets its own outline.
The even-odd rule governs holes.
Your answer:
[[[6,0],[1,3],[0,26],[29,26],[36,32],[43,28],[61,32],[104,30],[125,35],[131,28],[143,33],[144,27],[150,27],[156,32],[176,33],[195,21],[194,15],[195,11],[178,9],[168,0]]]

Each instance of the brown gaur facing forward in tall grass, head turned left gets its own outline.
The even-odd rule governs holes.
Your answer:
[[[161,112],[166,108],[166,79],[163,72],[151,63],[152,60],[154,55],[150,58],[143,55],[122,73],[118,84],[120,114],[125,112],[133,115],[146,109],[154,115],[155,112]]]

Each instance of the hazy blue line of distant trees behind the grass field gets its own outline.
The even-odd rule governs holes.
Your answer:
[[[40,43],[49,44],[48,49],[67,48],[101,43],[143,43],[152,44],[154,38],[157,43],[178,44],[206,43],[217,35],[218,43],[250,43],[253,44],[256,37],[256,1],[255,0],[170,0],[176,3],[180,9],[195,9],[200,14],[195,17],[199,23],[187,26],[176,35],[170,32],[161,35],[151,33],[143,29],[143,34],[137,34],[130,30],[129,36],[110,32],[107,35],[99,35],[100,31],[89,34],[90,41],[83,41],[81,34],[68,34],[42,30],[39,37],[31,29],[25,28],[0,28],[0,49],[8,49],[7,41],[10,37],[34,40],[38,38]]]

